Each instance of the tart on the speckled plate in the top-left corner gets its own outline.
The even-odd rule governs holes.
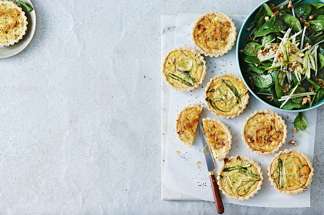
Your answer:
[[[12,1],[0,1],[0,46],[17,43],[27,30],[27,17]]]

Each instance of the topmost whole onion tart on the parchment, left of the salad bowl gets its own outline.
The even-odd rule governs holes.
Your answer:
[[[226,14],[217,11],[201,15],[192,27],[192,41],[205,56],[223,56],[236,40],[236,27]]]

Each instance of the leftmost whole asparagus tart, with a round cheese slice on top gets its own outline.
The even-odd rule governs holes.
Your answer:
[[[191,47],[173,48],[164,56],[161,76],[165,83],[177,91],[189,91],[203,83],[206,61]]]

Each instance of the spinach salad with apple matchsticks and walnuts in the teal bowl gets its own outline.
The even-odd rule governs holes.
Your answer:
[[[251,89],[287,110],[324,97],[324,4],[299,2],[263,4],[239,53]]]

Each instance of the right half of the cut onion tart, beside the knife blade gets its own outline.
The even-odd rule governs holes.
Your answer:
[[[225,158],[232,143],[232,135],[227,126],[219,119],[208,117],[203,119],[203,129],[214,159],[220,161]]]

